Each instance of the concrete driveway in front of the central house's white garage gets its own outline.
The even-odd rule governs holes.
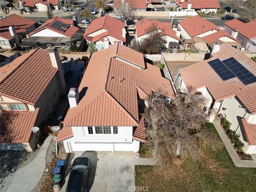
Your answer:
[[[69,168],[74,159],[86,155],[91,158],[92,166],[87,185],[90,192],[122,192],[129,191],[129,186],[134,186],[134,156],[132,152],[105,152],[91,151],[74,153],[70,156]],[[61,191],[66,190],[69,170],[66,172],[65,183]]]

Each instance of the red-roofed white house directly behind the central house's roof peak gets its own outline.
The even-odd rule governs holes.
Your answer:
[[[94,19],[86,29],[84,39],[88,43],[95,43],[98,51],[114,43],[125,44],[125,24],[109,15]]]

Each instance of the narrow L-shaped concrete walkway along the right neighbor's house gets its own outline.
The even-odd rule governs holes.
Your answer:
[[[253,167],[253,168],[256,168],[255,156],[253,156],[253,161],[241,160],[238,157],[238,155],[237,155],[233,145],[229,141],[228,136],[227,136],[226,132],[223,130],[223,128],[221,127],[220,122],[219,122],[218,119],[214,120],[213,125],[215,126],[215,129],[219,133],[220,138],[221,138],[223,144],[225,145],[225,147],[226,147],[226,149],[228,151],[228,154],[231,157],[231,159],[232,159],[233,163],[235,164],[235,166],[237,166],[237,167]]]

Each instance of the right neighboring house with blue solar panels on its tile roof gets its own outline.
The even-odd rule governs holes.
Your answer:
[[[227,44],[215,44],[212,58],[182,68],[175,85],[193,86],[206,99],[204,110],[213,122],[226,115],[230,129],[241,135],[244,152],[256,154],[256,63]],[[177,87],[177,88],[178,88]]]

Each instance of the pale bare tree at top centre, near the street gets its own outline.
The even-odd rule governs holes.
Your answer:
[[[121,16],[121,19],[124,21],[125,26],[127,26],[127,20],[133,18],[132,5],[121,1],[116,7],[116,10]]]

